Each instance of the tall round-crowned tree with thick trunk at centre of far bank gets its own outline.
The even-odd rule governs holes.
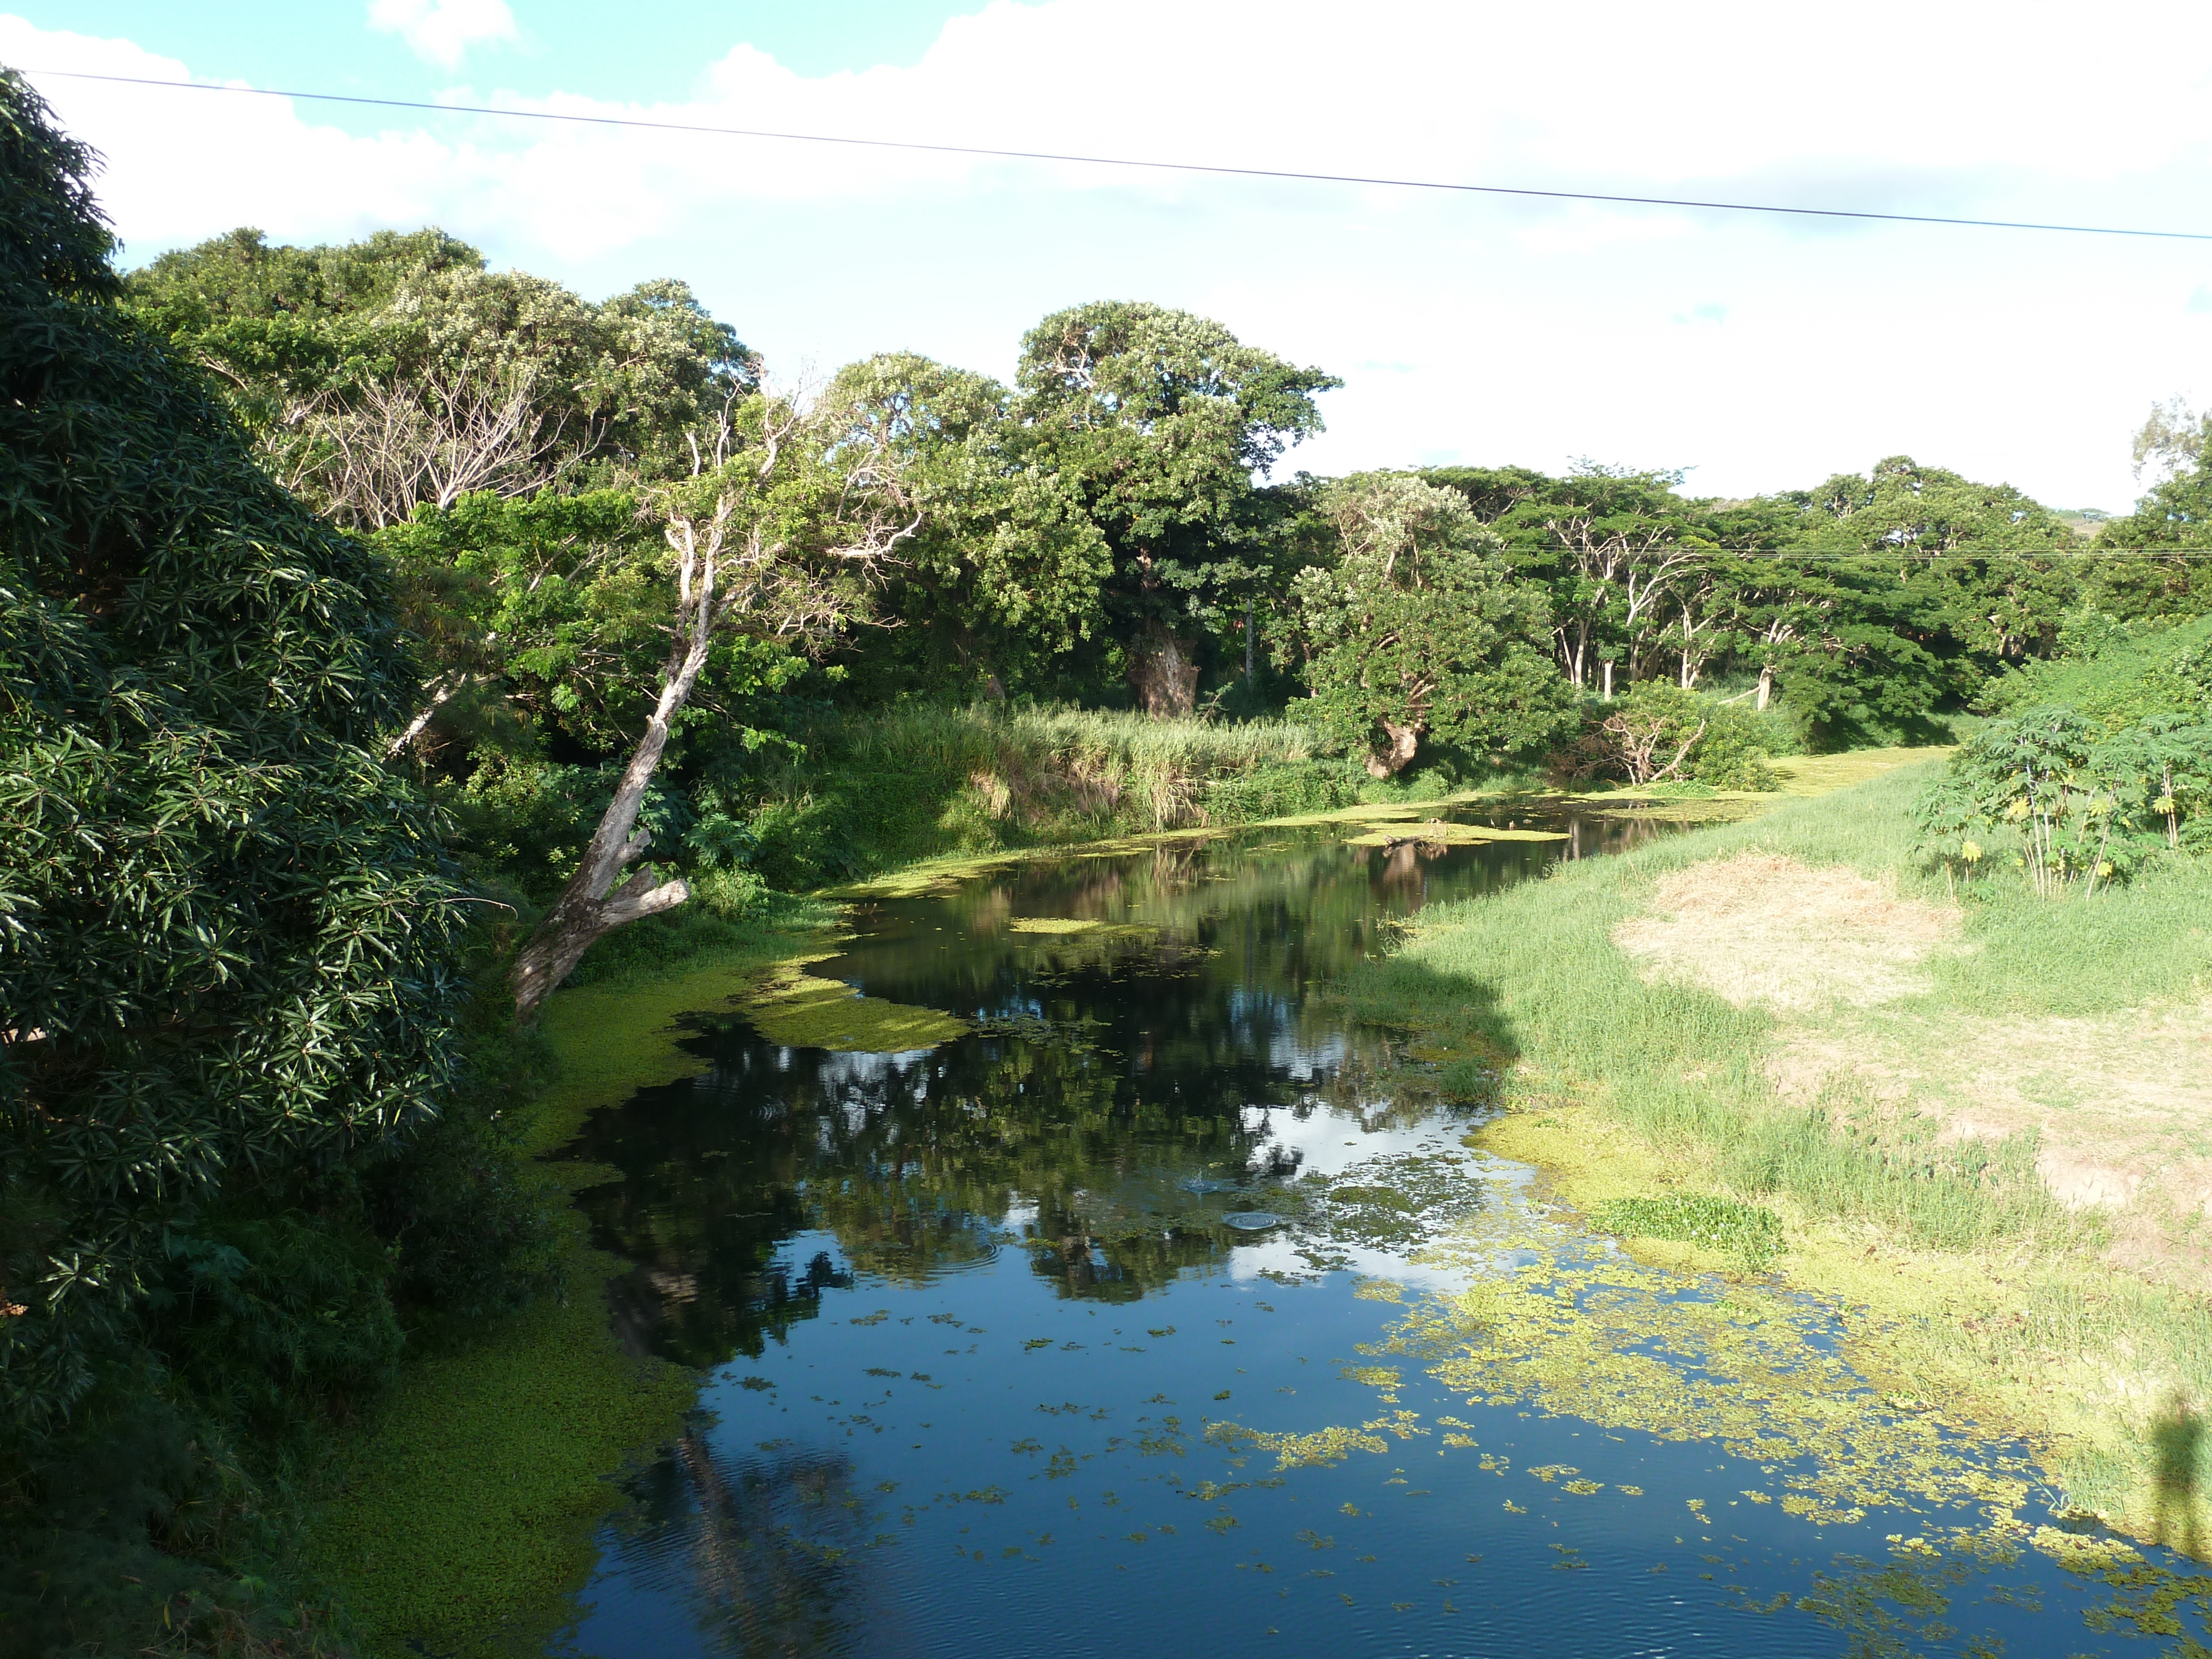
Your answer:
[[[1022,338],[1020,453],[1108,549],[1102,608],[1144,710],[1192,710],[1206,635],[1283,535],[1285,502],[1254,476],[1321,431],[1314,394],[1336,385],[1159,305],[1077,305]]]

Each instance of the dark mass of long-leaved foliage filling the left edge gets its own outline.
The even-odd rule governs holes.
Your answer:
[[[460,1093],[383,564],[115,305],[91,166],[0,71],[0,1650],[305,1652],[283,1447],[531,1279],[526,1068]]]

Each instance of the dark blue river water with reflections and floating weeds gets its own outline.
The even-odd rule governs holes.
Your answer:
[[[639,1263],[624,1332],[708,1387],[553,1650],[1752,1659],[2203,1637],[2159,1559],[2068,1571],[2053,1495],[2004,1447],[1944,1431],[2004,1502],[1951,1478],[1838,1517],[1794,1498],[1823,1449],[1743,1431],[1714,1360],[1557,1323],[1617,1325],[1646,1294],[1632,1265],[1551,1219],[1528,1170],[1469,1152],[1478,1108],[1436,1099],[1405,1040],[1327,984],[1422,905],[1650,834],[1571,830],[1427,854],[1256,832],[876,905],[814,973],[978,1022],[929,1053],[697,1020],[710,1068],[602,1110],[575,1152],[624,1172],[584,1194]],[[1544,1301],[1540,1338],[1411,1327],[1484,1285],[1564,1314]],[[1646,1305],[1774,1329],[1719,1283]],[[1785,1314],[1834,1360],[1823,1310]],[[1683,1383],[1608,1396],[1615,1369],[1655,1365]]]

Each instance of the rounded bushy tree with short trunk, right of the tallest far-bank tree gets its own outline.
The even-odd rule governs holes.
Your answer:
[[[1338,557],[1294,584],[1310,708],[1371,776],[1402,772],[1427,737],[1502,757],[1573,726],[1544,595],[1513,582],[1464,498],[1365,473],[1329,487],[1323,511]]]

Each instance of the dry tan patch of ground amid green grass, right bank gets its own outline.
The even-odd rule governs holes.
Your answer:
[[[2154,1279],[2212,1267],[2212,1002],[2099,1018],[1893,1006],[1933,987],[1962,916],[1887,880],[1767,852],[1661,878],[1613,931],[1646,980],[1783,1015],[1767,1068],[1885,1141],[2028,1135],[2070,1210],[2110,1217],[2110,1259]]]

